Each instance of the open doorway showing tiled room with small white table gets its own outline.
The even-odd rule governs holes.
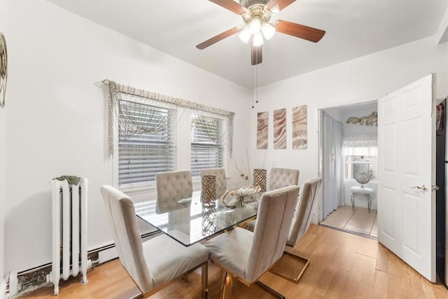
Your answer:
[[[319,111],[319,222],[372,239],[377,239],[377,121],[368,117],[375,113],[376,101]]]

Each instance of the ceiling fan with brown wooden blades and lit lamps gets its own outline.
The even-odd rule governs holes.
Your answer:
[[[218,4],[229,11],[241,15],[244,20],[244,27],[234,27],[221,34],[218,34],[203,43],[200,43],[196,48],[202,50],[207,48],[228,36],[239,32],[241,41],[247,43],[251,41],[251,59],[252,65],[260,64],[262,62],[262,44],[264,39],[271,39],[275,32],[289,34],[300,39],[306,39],[317,43],[322,39],[325,31],[300,25],[293,22],[276,20],[269,22],[272,15],[278,13],[286,6],[292,4],[295,0],[239,0],[239,3],[234,0],[209,0],[214,4]]]

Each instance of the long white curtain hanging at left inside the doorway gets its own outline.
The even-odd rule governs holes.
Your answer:
[[[344,202],[341,123],[323,112],[323,219]]]

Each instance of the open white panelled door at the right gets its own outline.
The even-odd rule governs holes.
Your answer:
[[[378,239],[435,282],[433,82],[429,75],[379,99]]]

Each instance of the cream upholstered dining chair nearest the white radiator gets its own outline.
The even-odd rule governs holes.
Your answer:
[[[141,242],[132,199],[112,186],[102,186],[101,193],[120,263],[144,298],[201,266],[202,296],[207,297],[209,252],[206,247],[202,244],[186,247],[167,235]]]

